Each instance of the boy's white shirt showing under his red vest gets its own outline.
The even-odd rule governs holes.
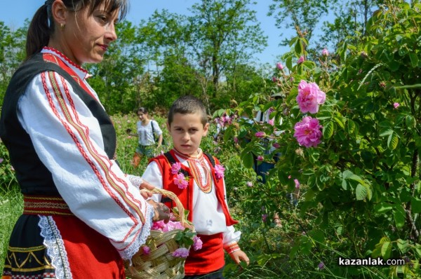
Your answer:
[[[177,155],[175,155],[177,156]],[[188,168],[187,160],[177,156],[178,161]],[[208,161],[206,165],[210,170]],[[201,177],[205,177],[203,168],[198,164],[201,172]],[[152,161],[147,165],[145,172],[142,175],[142,179],[156,186],[156,188],[163,188],[163,177],[159,165]],[[212,179],[213,180],[213,179]],[[202,181],[206,184],[206,181]],[[223,243],[238,242],[241,236],[241,231],[235,231],[234,226],[227,226],[225,223],[225,215],[222,211],[222,207],[218,205],[218,199],[215,195],[215,184],[212,181],[212,191],[210,193],[204,193],[199,189],[196,181],[193,183],[193,225],[197,233],[203,235],[212,235],[215,233],[223,233]],[[185,189],[187,191],[187,189]],[[225,191],[225,180],[224,180],[224,191]],[[154,194],[152,197],[156,202],[161,201],[160,194]],[[227,200],[225,200],[227,203]]]

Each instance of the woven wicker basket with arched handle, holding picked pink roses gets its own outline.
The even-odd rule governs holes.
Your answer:
[[[177,205],[178,220],[186,228],[192,229],[194,227],[188,224],[184,216],[184,207],[178,197],[171,191],[163,189],[153,189],[152,193],[161,193],[163,196],[171,198]],[[178,279],[184,278],[184,264],[185,258],[173,257],[173,252],[180,248],[175,241],[175,236],[181,230],[175,229],[163,233],[162,231],[152,230],[147,238],[147,243],[150,252],[145,254],[142,249],[139,250],[132,258],[132,264],[128,261],[125,263],[126,277],[132,279]],[[185,247],[189,249],[189,247]]]

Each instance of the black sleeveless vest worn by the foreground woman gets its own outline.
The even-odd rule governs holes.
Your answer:
[[[36,154],[31,138],[22,128],[18,120],[17,108],[20,96],[36,74],[45,71],[57,72],[70,83],[74,92],[83,100],[98,119],[105,152],[113,158],[116,150],[116,132],[111,119],[102,108],[101,104],[83,90],[65,69],[58,64],[43,59],[43,53],[37,53],[13,74],[6,90],[0,118],[0,137],[8,149],[11,164],[20,184],[22,193],[30,195],[59,196],[51,172],[41,162]]]

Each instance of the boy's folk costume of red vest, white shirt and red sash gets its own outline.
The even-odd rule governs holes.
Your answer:
[[[217,158],[203,154],[186,156],[172,149],[166,154],[153,158],[142,178],[145,181],[175,193],[183,207],[189,210],[187,219],[193,222],[194,229],[203,241],[201,250],[190,249],[185,262],[185,275],[202,275],[218,271],[225,265],[224,250],[232,253],[239,250],[240,231],[234,230],[237,222],[229,215],[225,196],[225,181],[215,174],[215,165],[220,165]],[[180,172],[189,177],[186,189],[175,184],[177,173],[171,168],[181,163]],[[162,200],[161,200],[162,198]],[[154,195],[154,200],[175,207],[172,200],[161,195]]]

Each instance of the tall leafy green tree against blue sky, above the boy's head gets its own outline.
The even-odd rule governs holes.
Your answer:
[[[190,43],[203,69],[211,69],[212,97],[229,69],[250,60],[267,45],[250,0],[202,0],[192,6]],[[234,75],[232,75],[234,76]]]

